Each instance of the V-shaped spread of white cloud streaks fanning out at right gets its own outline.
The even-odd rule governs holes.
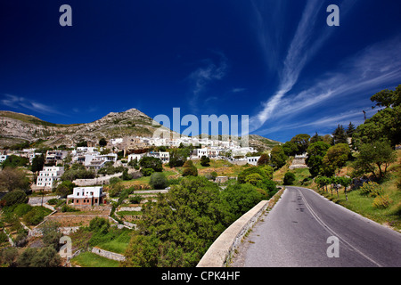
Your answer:
[[[356,4],[356,0],[341,2],[341,19],[344,20]],[[282,66],[278,69],[280,82],[276,92],[266,102],[262,110],[250,118],[250,130],[258,134],[268,134],[280,129],[301,126],[321,126],[338,122],[344,118],[363,118],[362,110],[345,111],[352,106],[331,110],[332,116],[311,121],[311,114],[319,106],[347,100],[349,96],[372,92],[378,86],[393,84],[401,80],[401,37],[395,37],[364,48],[359,53],[345,58],[330,71],[315,77],[299,92],[291,92],[299,83],[299,77],[308,61],[327,43],[335,28],[316,31],[317,12],[321,12],[323,2],[309,0],[299,20],[299,25]],[[352,102],[352,101],[351,101]],[[356,115],[357,114],[357,115]],[[359,117],[357,117],[359,116]],[[296,123],[294,123],[296,120]],[[266,122],[269,126],[266,126]]]

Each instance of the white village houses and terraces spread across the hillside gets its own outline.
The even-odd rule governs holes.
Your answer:
[[[196,145],[195,147],[193,145]],[[209,138],[178,138],[158,139],[147,137],[126,137],[106,141],[100,140],[96,144],[81,142],[78,145],[62,145],[53,149],[21,149],[3,150],[0,164],[20,159],[25,161],[24,171],[30,176],[31,194],[28,205],[32,208],[44,208],[45,214],[40,218],[40,223],[20,221],[25,229],[25,238],[20,238],[20,230],[9,232],[8,237],[12,245],[19,245],[20,239],[23,242],[35,242],[37,237],[42,236],[41,226],[43,224],[57,223],[64,234],[73,234],[81,226],[87,226],[94,219],[105,218],[110,224],[117,225],[120,230],[134,230],[135,221],[141,216],[143,205],[148,201],[157,200],[158,193],[168,191],[168,184],[163,187],[156,186],[157,190],[151,187],[149,175],[142,172],[143,167],[138,167],[139,162],[144,158],[156,159],[163,167],[163,173],[174,180],[181,176],[180,171],[169,166],[170,153],[184,151],[187,153],[182,159],[181,166],[186,160],[216,161],[217,164],[233,166],[256,166],[260,153],[252,147],[241,147],[234,141],[218,141]],[[39,169],[32,167],[41,161]],[[61,192],[66,184],[63,176],[74,167],[90,173],[90,177],[78,176],[69,183],[73,185],[67,194]],[[225,166],[226,167],[226,166]],[[107,169],[107,170],[105,170]],[[114,173],[108,173],[108,170]],[[126,171],[126,174],[124,172]],[[115,181],[128,175],[128,181],[142,181],[135,184],[135,195],[131,194],[126,199],[119,199],[119,195],[112,195],[110,192]],[[148,176],[148,177],[145,177]],[[143,177],[143,178],[141,178]],[[230,178],[227,176],[210,176],[215,183],[225,183]],[[135,179],[136,178],[136,179]],[[142,180],[141,180],[142,179]],[[125,179],[123,179],[125,180]],[[165,189],[166,188],[166,189]],[[141,190],[143,190],[141,192]],[[141,198],[139,198],[141,197]],[[61,203],[61,204],[60,204]],[[77,209],[74,209],[77,208]],[[47,212],[48,211],[48,212]],[[124,215],[127,214],[127,215]],[[7,231],[6,231],[7,232]],[[29,241],[28,241],[29,240]],[[98,249],[94,249],[98,250]],[[102,251],[102,250],[101,250]],[[99,250],[97,251],[99,253]],[[124,259],[121,253],[107,253],[119,260]],[[117,257],[116,257],[117,256]],[[68,263],[68,265],[70,265]]]

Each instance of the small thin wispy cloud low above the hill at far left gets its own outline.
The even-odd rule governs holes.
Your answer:
[[[61,111],[56,110],[53,106],[12,94],[4,94],[4,98],[0,102],[4,106],[14,110],[31,110],[45,115],[53,114],[65,116]]]

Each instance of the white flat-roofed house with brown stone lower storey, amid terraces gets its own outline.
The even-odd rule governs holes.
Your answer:
[[[94,206],[104,203],[103,187],[75,187],[72,194],[67,196],[67,204],[71,202],[74,206]]]

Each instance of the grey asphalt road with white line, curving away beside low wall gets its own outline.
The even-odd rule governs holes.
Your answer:
[[[331,237],[338,239],[338,247]],[[401,233],[342,208],[314,191],[287,187],[282,199],[243,242],[232,265],[400,267]]]

